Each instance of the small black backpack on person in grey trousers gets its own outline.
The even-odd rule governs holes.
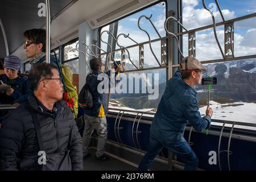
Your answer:
[[[82,87],[81,92],[79,93],[79,105],[82,108],[88,109],[93,106],[93,96],[92,93],[90,92],[90,88],[88,84],[85,84]]]

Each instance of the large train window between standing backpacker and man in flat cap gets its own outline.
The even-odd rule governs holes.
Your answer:
[[[151,52],[147,34],[138,27],[138,20],[142,15],[147,17],[152,15],[150,20],[157,30],[156,32],[146,18],[140,19],[141,28],[150,35],[151,47],[155,56]],[[164,31],[165,19],[166,2],[160,2],[100,29],[100,35],[102,35],[100,38],[112,46],[114,60],[123,60],[126,70],[125,73],[122,73],[121,78],[121,80],[125,80],[125,86],[122,85],[122,88],[125,87],[125,89],[121,93],[118,93],[117,90],[115,90],[115,93],[110,93],[109,107],[149,112],[156,111],[167,81],[166,68],[159,67],[158,63],[158,61],[161,63],[162,46],[159,38],[166,36]],[[119,46],[106,31],[111,31],[115,38],[118,38]],[[131,39],[123,35],[129,35]],[[100,46],[104,51],[109,52],[110,48],[104,42],[101,42]],[[142,49],[140,43],[144,43]],[[125,53],[122,54],[120,46],[127,47]],[[129,51],[129,54],[127,51]],[[101,59],[105,63],[109,57],[106,56],[106,53],[101,52]],[[140,60],[143,60],[143,65],[140,64]],[[139,68],[139,71],[137,71],[137,68]]]

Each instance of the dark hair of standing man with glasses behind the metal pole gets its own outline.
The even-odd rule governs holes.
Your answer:
[[[34,28],[31,30],[26,30],[24,32],[24,36],[28,39],[31,40],[33,42],[36,43],[42,43],[43,44],[43,48],[42,48],[42,52],[46,52],[46,30],[43,28]]]

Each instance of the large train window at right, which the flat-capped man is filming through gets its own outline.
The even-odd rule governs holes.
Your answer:
[[[205,27],[212,24],[212,17],[204,10],[200,1],[183,1],[183,26],[188,30],[198,28],[195,31],[195,56],[207,67],[203,77],[217,77],[217,85],[210,89],[210,106],[214,110],[213,119],[237,122],[254,123],[256,114],[253,108],[256,106],[256,38],[255,31],[255,6],[253,1],[245,3],[235,1],[219,1],[225,20],[240,18],[230,21],[232,24],[217,24],[216,34],[224,56],[214,38],[213,27]],[[254,3],[255,4],[255,3]],[[207,1],[207,6],[217,8],[215,1]],[[254,8],[254,9],[253,9]],[[251,15],[249,15],[251,14]],[[213,12],[216,23],[222,22],[220,12]],[[241,16],[245,16],[242,17]],[[232,42],[226,34],[233,27],[233,53],[225,50],[225,45]],[[225,28],[225,30],[224,30]],[[192,36],[180,32],[183,40],[184,56],[192,55]],[[190,44],[189,44],[190,43]],[[189,44],[189,45],[188,45]],[[233,54],[233,55],[232,55]],[[199,110],[205,112],[208,104],[207,85],[196,85]],[[215,123],[214,123],[215,124]]]

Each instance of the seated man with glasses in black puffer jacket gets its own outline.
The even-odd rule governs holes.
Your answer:
[[[31,111],[39,118],[42,146],[47,156],[63,154],[68,149],[72,170],[82,169],[82,141],[72,111],[62,101],[63,84],[54,65],[38,64],[29,75],[34,95],[10,111],[0,129],[0,169],[42,170],[42,154]],[[69,146],[69,147],[68,147]],[[46,161],[59,163],[56,161]]]

